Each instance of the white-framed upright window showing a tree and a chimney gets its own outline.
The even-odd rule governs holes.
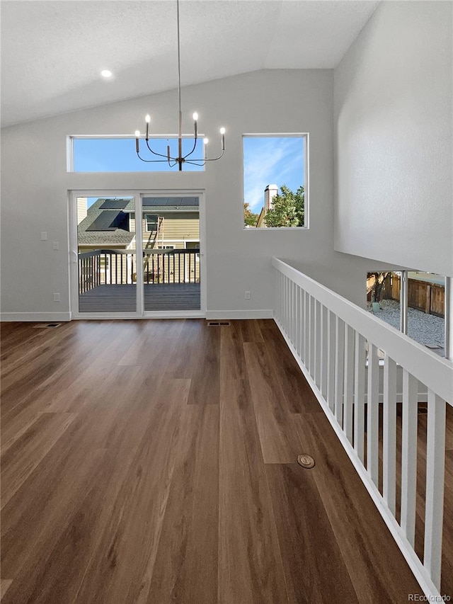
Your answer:
[[[309,135],[244,134],[243,227],[308,228]]]

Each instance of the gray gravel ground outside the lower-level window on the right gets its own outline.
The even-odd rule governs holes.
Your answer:
[[[399,329],[400,311],[399,302],[396,300],[381,300],[381,310],[374,314],[391,326]],[[370,303],[367,310],[372,312]],[[415,308],[408,308],[408,336],[425,346],[444,347],[444,319],[426,314]]]

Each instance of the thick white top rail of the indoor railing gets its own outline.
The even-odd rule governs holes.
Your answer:
[[[436,355],[418,342],[401,334],[381,319],[346,300],[311,279],[297,268],[289,265],[280,258],[273,257],[273,267],[302,287],[309,295],[319,300],[337,317],[371,341],[374,346],[381,348],[398,365],[402,365],[417,380],[425,384],[442,399],[453,405],[453,363]]]

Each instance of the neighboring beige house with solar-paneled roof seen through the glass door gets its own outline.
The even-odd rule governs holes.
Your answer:
[[[83,200],[85,206],[83,207]],[[142,237],[145,282],[167,278],[177,282],[200,280],[200,219],[197,197],[144,198]],[[101,283],[130,283],[137,278],[137,261],[122,250],[136,249],[134,201],[100,198],[86,208],[78,200],[78,214],[86,217],[77,227],[79,253],[105,250],[99,257]],[[171,250],[193,249],[195,254]],[[117,253],[108,253],[116,251]],[[153,253],[149,253],[153,250]],[[168,250],[164,257],[156,250]],[[135,267],[135,268],[134,268]],[[88,270],[92,270],[91,266]],[[109,276],[110,275],[110,276]]]

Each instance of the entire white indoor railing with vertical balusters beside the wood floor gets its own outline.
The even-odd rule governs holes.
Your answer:
[[[280,331],[425,596],[440,598],[445,404],[453,405],[453,364],[284,261],[273,258],[273,267],[275,321]],[[379,359],[379,351],[381,357],[384,353],[383,359]],[[419,382],[428,401],[423,560],[414,550]],[[399,523],[396,520],[397,401],[402,402]]]

